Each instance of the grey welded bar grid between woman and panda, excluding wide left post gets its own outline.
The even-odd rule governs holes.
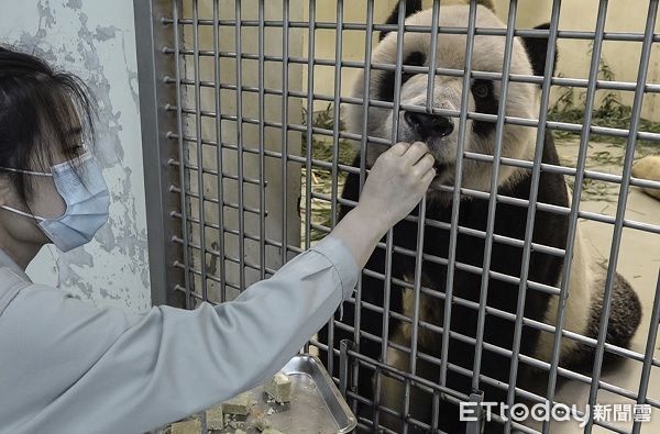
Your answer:
[[[323,2],[326,0],[322,0]],[[457,157],[455,187],[443,187],[453,196],[451,222],[439,222],[426,218],[426,200],[420,205],[419,218],[409,218],[418,224],[417,251],[398,253],[415,258],[416,268],[414,282],[395,279],[392,276],[392,256],[396,248],[392,231],[378,248],[386,251],[384,275],[364,270],[372,277],[384,280],[385,302],[380,307],[383,312],[383,333],[381,336],[365,336],[361,330],[362,288],[358,286],[354,298],[354,326],[351,329],[353,341],[370,338],[382,344],[378,359],[365,356],[360,347],[343,348],[351,366],[350,382],[346,398],[358,409],[358,403],[373,405],[376,410],[373,418],[359,415],[360,425],[366,430],[378,426],[381,412],[396,412],[384,409],[377,401],[381,391],[381,375],[395,376],[405,381],[404,419],[407,432],[413,425],[425,429],[438,429],[438,403],[441,400],[452,402],[466,401],[470,397],[462,391],[452,391],[447,387],[447,375],[450,370],[465,370],[448,363],[449,338],[463,338],[471,342],[475,348],[474,366],[466,374],[472,378],[474,390],[484,382],[496,383],[508,391],[508,404],[519,397],[532,402],[553,402],[557,399],[558,381],[573,380],[588,385],[587,401],[592,405],[597,402],[598,391],[607,391],[622,402],[650,404],[660,408],[660,397],[648,396],[649,381],[653,368],[660,366],[660,360],[653,357],[656,348],[656,329],[660,319],[660,300],[656,297],[651,305],[645,305],[645,318],[641,324],[648,341],[644,353],[620,348],[605,343],[606,324],[609,315],[613,283],[617,261],[620,258],[620,246],[624,231],[640,231],[656,237],[660,243],[660,226],[630,218],[626,213],[627,200],[631,187],[660,188],[660,182],[631,177],[631,167],[636,158],[636,145],[645,141],[647,146],[660,146],[658,132],[644,131],[640,127],[645,96],[660,93],[660,85],[649,82],[648,69],[651,62],[651,51],[660,35],[654,33],[658,12],[658,0],[635,2],[636,8],[648,8],[647,22],[644,29],[630,32],[608,32],[605,29],[607,16],[607,0],[601,0],[597,8],[597,20],[593,31],[572,31],[561,29],[561,1],[552,3],[548,30],[530,30],[516,24],[518,1],[508,4],[507,29],[480,29],[475,26],[476,2],[470,3],[470,19],[466,27],[438,26],[438,16],[442,13],[441,1],[432,1],[433,22],[428,26],[406,26],[406,32],[422,32],[431,35],[431,52],[436,51],[437,37],[443,34],[466,34],[466,62],[462,70],[438,68],[431,56],[428,66],[406,66],[403,64],[404,16],[406,2],[398,2],[399,20],[397,24],[384,25],[385,16],[375,16],[375,10],[381,8],[374,0],[353,1],[349,5],[343,0],[332,2],[334,16],[318,16],[320,2],[316,0],[300,1],[173,1],[170,10],[164,12],[161,24],[173,26],[174,40],[164,41],[162,55],[173,56],[176,65],[174,76],[163,77],[163,81],[175,89],[176,99],[167,104],[166,110],[176,116],[176,130],[167,132],[172,146],[178,149],[178,157],[169,162],[172,169],[179,174],[178,183],[169,186],[173,194],[180,198],[180,211],[172,211],[172,219],[180,227],[180,235],[172,240],[183,246],[184,255],[173,266],[180,268],[184,280],[177,282],[175,289],[185,293],[187,307],[195,308],[199,301],[223,302],[232,299],[249,283],[263,279],[279,268],[293,255],[309,248],[315,241],[315,233],[320,236],[328,233],[337,224],[338,208],[354,205],[351,201],[340,200],[342,180],[345,174],[360,176],[362,188],[366,176],[365,149],[367,143],[392,144],[397,141],[398,116],[393,116],[391,137],[367,137],[369,108],[381,107],[393,109],[394,112],[406,110],[420,113],[436,113],[458,118],[459,142]],[[396,3],[396,2],[392,2]],[[631,5],[632,7],[632,5]],[[346,21],[346,9],[361,9],[363,20]],[[391,7],[388,7],[391,8]],[[302,12],[302,10],[305,12]],[[388,11],[389,12],[389,11]],[[539,19],[541,22],[542,19]],[[397,32],[396,63],[392,65],[371,62],[373,46],[377,42],[378,31]],[[344,36],[362,35],[364,55],[362,59],[344,58],[342,49],[345,46]],[[505,40],[505,59],[503,73],[480,71],[472,68],[472,46],[476,34],[497,35]],[[549,37],[547,67],[542,77],[510,75],[512,46],[514,36],[546,36]],[[562,41],[584,41],[591,43],[590,68],[584,78],[553,77],[552,65],[556,57],[554,43]],[[332,44],[333,42],[333,44]],[[602,48],[607,44],[630,44],[640,47],[637,80],[604,80],[598,77]],[[324,49],[331,47],[333,49]],[[319,52],[321,52],[319,54]],[[657,62],[657,60],[656,60]],[[349,80],[355,70],[364,69],[363,98],[350,97],[342,81]],[[372,70],[394,70],[394,101],[378,101],[369,92]],[[429,86],[426,107],[404,105],[400,102],[402,74],[428,74]],[[320,78],[319,78],[320,76]],[[433,82],[439,76],[463,78],[462,109],[459,111],[441,110],[432,107]],[[331,77],[332,86],[321,86],[321,80]],[[471,79],[488,79],[502,81],[502,98],[498,102],[497,114],[485,114],[466,110]],[[519,119],[505,116],[509,82],[532,82],[541,88],[541,101],[538,119]],[[551,93],[572,88],[585,91],[584,116],[581,122],[564,122],[549,119]],[[324,89],[324,90],[319,90]],[[630,92],[631,108],[628,127],[612,127],[593,122],[596,97],[598,92],[618,91]],[[319,108],[328,105],[330,123],[319,124]],[[363,109],[363,125],[360,133],[349,133],[342,130],[339,121],[341,108],[346,104],[358,104]],[[327,113],[328,114],[328,113]],[[495,153],[483,155],[464,151],[465,129],[469,119],[495,123]],[[536,152],[532,160],[517,160],[502,157],[504,125],[515,124],[538,127]],[[543,137],[546,131],[573,134],[576,147],[576,158],[573,164],[553,166],[541,164]],[[616,174],[587,168],[588,148],[594,135],[607,136],[612,141],[625,141],[620,145],[620,167]],[[342,145],[353,142],[362,151],[359,166],[352,167],[350,157],[345,157]],[[323,152],[324,151],[324,152]],[[639,151],[639,149],[637,149]],[[465,159],[488,162],[493,165],[493,176],[488,192],[471,190],[461,187],[462,164]],[[529,200],[521,200],[497,194],[497,179],[501,165],[531,169],[532,189]],[[566,177],[573,186],[570,208],[541,203],[537,200],[538,182],[541,171],[558,173]],[[327,177],[329,185],[319,182]],[[615,214],[581,210],[581,199],[586,181],[608,183],[618,187],[615,194]],[[488,201],[486,231],[476,231],[459,225],[461,198],[473,197]],[[298,198],[300,198],[298,200]],[[507,238],[495,234],[495,208],[498,203],[521,207],[527,212],[526,236],[524,240]],[[315,218],[315,212],[321,212],[326,219]],[[329,212],[328,212],[329,210]],[[525,211],[526,210],[526,211]],[[569,237],[565,249],[543,246],[532,243],[531,235],[536,211],[546,211],[566,215],[570,222]],[[318,216],[318,215],[317,215]],[[574,249],[574,236],[578,221],[591,221],[613,226],[610,251],[607,258],[607,277],[604,288],[604,312],[597,340],[588,338],[562,329],[564,310],[560,309],[556,327],[537,322],[526,321],[521,312],[525,309],[527,291],[540,290],[559,297],[565,301]],[[452,315],[452,304],[471,305],[479,311],[477,334],[475,337],[461,336],[451,331],[442,334],[441,357],[425,355],[418,348],[418,332],[421,327],[438,329],[424,323],[419,318],[421,294],[438,297],[438,293],[421,285],[422,243],[425,227],[441,227],[450,232],[449,256],[427,257],[424,260],[446,264],[448,267],[446,291],[441,297],[452,302],[444,303],[443,324],[449,324]],[[485,252],[482,267],[461,264],[457,260],[458,234],[485,240]],[[318,237],[318,236],[317,236]],[[522,268],[518,276],[507,276],[491,270],[491,248],[494,242],[509,244],[522,249]],[[563,257],[564,274],[558,287],[530,281],[528,266],[530,253],[541,252]],[[474,272],[481,276],[480,302],[473,305],[468,300],[453,296],[454,270]],[[658,269],[649,272],[657,275]],[[486,305],[490,279],[512,282],[518,287],[518,305],[515,318],[507,312]],[[403,312],[394,312],[388,305],[392,285],[409,288],[414,293],[414,316],[408,318]],[[660,280],[659,283],[660,286]],[[652,291],[652,289],[650,290]],[[563,305],[563,303],[560,303]],[[515,321],[513,348],[496,348],[484,343],[484,323],[486,315],[498,315]],[[410,323],[410,346],[395,344],[389,341],[389,319],[395,318]],[[522,325],[537,327],[544,332],[554,333],[553,350],[550,360],[536,360],[520,354]],[[334,329],[345,327],[333,321],[329,324],[328,346],[312,340],[314,346],[322,349],[330,348],[330,354],[340,353],[340,343],[334,338]],[[573,372],[559,367],[559,349],[563,340],[573,340],[587,346],[595,346],[596,361],[593,370],[587,374]],[[397,348],[410,355],[406,370],[397,369],[387,360],[387,348]],[[510,357],[509,381],[497,382],[481,374],[481,354],[484,348],[498,352]],[[306,350],[309,347],[305,348]],[[615,354],[641,364],[639,387],[626,389],[615,383],[604,381],[601,377],[603,356],[605,353]],[[421,378],[417,375],[417,361],[439,364],[439,378]],[[328,357],[328,370],[333,372],[333,357]],[[549,372],[549,383],[546,396],[512,387],[516,385],[519,363],[543,369]],[[359,366],[367,366],[376,371],[374,397],[362,397],[358,390]],[[342,380],[348,381],[345,378]],[[409,414],[409,394],[411,388],[421,388],[433,393],[433,418],[430,425],[406,418]],[[373,400],[372,400],[373,398]],[[588,419],[585,432],[591,432],[597,425],[606,431],[637,433],[644,427],[635,422],[626,426],[617,423],[596,420],[593,414]],[[507,420],[504,422],[506,432],[512,429],[522,432],[537,432],[520,423]],[[547,433],[548,423],[538,427]],[[631,430],[631,431],[630,431]],[[386,430],[388,431],[388,430]],[[437,431],[433,431],[437,432]]]

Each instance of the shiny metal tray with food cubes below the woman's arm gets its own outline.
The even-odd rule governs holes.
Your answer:
[[[286,404],[268,402],[263,385],[249,393],[256,401],[257,413],[263,412],[271,426],[285,434],[341,434],[355,429],[358,421],[343,397],[334,386],[332,378],[321,361],[311,355],[301,354],[292,358],[282,369],[292,379],[293,400]],[[252,426],[254,412],[235,421],[245,422],[242,430],[249,434],[258,434]],[[234,429],[219,433],[233,434]]]

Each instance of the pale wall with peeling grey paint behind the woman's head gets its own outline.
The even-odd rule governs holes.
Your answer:
[[[28,274],[97,305],[148,309],[133,2],[7,2],[0,43],[35,53],[89,85],[99,104],[96,154],[111,191],[110,220],[92,243],[67,254],[46,246]]]

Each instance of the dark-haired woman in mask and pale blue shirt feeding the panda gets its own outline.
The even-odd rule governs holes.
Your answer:
[[[91,118],[79,79],[0,48],[2,433],[144,432],[251,389],[330,320],[435,177],[424,144],[396,144],[330,235],[234,301],[97,309],[24,272],[44,244],[68,251],[106,223]]]

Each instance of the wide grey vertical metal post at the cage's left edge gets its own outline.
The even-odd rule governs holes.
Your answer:
[[[175,287],[184,281],[184,272],[173,264],[184,256],[184,247],[170,243],[182,225],[172,212],[180,212],[180,201],[170,191],[178,174],[169,164],[177,157],[168,133],[176,131],[176,115],[168,110],[174,89],[166,78],[175,75],[175,59],[163,55],[163,44],[173,41],[173,25],[164,21],[169,10],[168,0],[134,0],[138,84],[140,87],[140,120],[151,301],[153,305],[185,307],[180,291]],[[185,283],[184,283],[185,285]]]

